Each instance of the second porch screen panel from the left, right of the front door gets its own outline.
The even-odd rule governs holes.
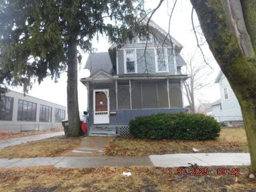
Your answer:
[[[132,109],[142,109],[141,83],[132,82]]]

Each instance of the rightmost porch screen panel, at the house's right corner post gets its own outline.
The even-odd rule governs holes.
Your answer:
[[[169,96],[171,108],[182,108],[182,92],[180,83],[169,83]]]

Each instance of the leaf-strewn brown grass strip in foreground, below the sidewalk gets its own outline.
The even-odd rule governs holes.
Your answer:
[[[231,168],[231,167],[226,167]],[[177,179],[172,168],[104,167],[63,169],[51,167],[0,169],[1,192],[240,192],[256,190],[256,179],[248,178],[249,167],[240,176],[218,176],[217,167],[207,176],[186,175]],[[187,168],[186,170],[190,170]],[[131,172],[132,176],[123,176]]]

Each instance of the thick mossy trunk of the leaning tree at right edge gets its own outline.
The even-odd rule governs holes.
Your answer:
[[[256,58],[254,50],[251,49],[250,54],[246,54],[241,49],[244,44],[241,44],[242,39],[237,38],[232,26],[237,22],[230,23],[230,12],[225,6],[226,1],[230,0],[190,1],[196,10],[209,48],[241,106],[251,167],[253,171],[256,171]],[[247,48],[252,48],[252,46],[247,46]]]

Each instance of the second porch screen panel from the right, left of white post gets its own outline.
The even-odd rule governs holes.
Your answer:
[[[157,82],[158,108],[169,108],[167,83]]]

